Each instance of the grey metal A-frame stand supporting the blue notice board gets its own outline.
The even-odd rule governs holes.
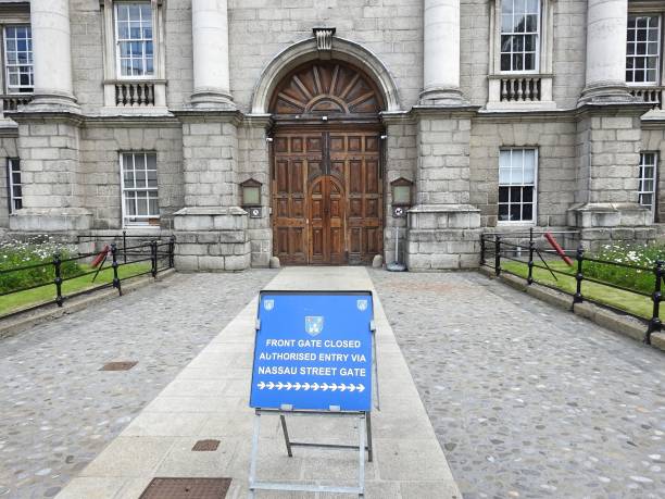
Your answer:
[[[304,295],[305,291],[298,292],[291,291],[292,294]],[[316,292],[318,295],[323,294],[323,291],[311,291]],[[283,292],[279,292],[283,294]],[[336,292],[336,294],[341,294]],[[274,294],[269,291],[263,291],[265,296],[272,296]],[[374,310],[373,307],[373,298],[369,292],[369,300],[372,302],[372,313]],[[263,302],[263,298],[260,300],[259,308],[261,310]],[[259,337],[259,332],[261,329],[261,319],[256,321],[256,338]],[[369,332],[371,332],[371,341],[372,341],[372,362],[371,362],[371,371],[374,373],[374,379],[372,381],[372,385],[374,390],[372,390],[372,401],[376,401],[377,409],[379,408],[379,396],[378,396],[378,366],[377,366],[377,357],[376,357],[376,327],[374,320],[369,322]],[[256,347],[254,347],[256,348]],[[254,351],[254,359],[256,359],[256,352]],[[254,371],[254,370],[253,370]],[[289,384],[290,385],[290,384]],[[252,386],[254,386],[254,376],[252,376]],[[327,386],[327,385],[326,385]],[[351,385],[354,386],[354,385]],[[361,385],[362,386],[362,385]],[[286,389],[286,386],[284,387]],[[311,386],[308,387],[310,389]],[[263,388],[262,388],[263,389]],[[290,387],[289,387],[290,389]],[[299,388],[300,389],[300,388]],[[304,388],[302,388],[304,389]],[[323,388],[321,388],[323,390]],[[331,390],[332,388],[326,388],[325,391]],[[335,385],[335,391],[342,390],[341,386],[338,388]],[[352,390],[351,388],[347,388],[344,384],[343,390]],[[278,388],[281,390],[281,388]],[[318,388],[317,388],[318,390]],[[353,388],[355,390],[355,388]],[[275,483],[275,482],[261,482],[256,478],[256,464],[259,457],[259,441],[261,434],[261,417],[263,415],[278,415],[281,424],[281,431],[284,434],[284,441],[286,446],[287,456],[289,458],[293,457],[293,448],[296,447],[304,447],[304,448],[321,448],[321,449],[330,449],[330,450],[357,450],[359,459],[357,459],[357,467],[359,467],[359,478],[357,478],[357,487],[352,486],[324,486],[324,485],[305,485],[305,484],[296,484],[296,483]],[[344,417],[351,421],[356,420],[357,422],[357,445],[339,445],[339,444],[325,444],[325,442],[301,442],[293,441],[289,437],[289,431],[287,427],[286,416],[323,416],[323,417]],[[250,458],[250,475],[249,475],[249,497],[254,499],[255,492],[258,490],[279,490],[279,491],[311,491],[311,492],[331,492],[331,494],[353,494],[357,495],[359,498],[365,497],[365,452],[367,452],[368,462],[373,461],[374,452],[372,445],[372,416],[369,411],[347,411],[342,410],[340,406],[329,406],[328,410],[299,410],[293,408],[293,404],[283,403],[277,408],[254,408],[254,425],[253,425],[253,434],[252,434],[252,451]]]

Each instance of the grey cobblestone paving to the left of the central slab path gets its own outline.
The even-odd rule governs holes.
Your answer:
[[[0,498],[55,496],[275,275],[178,274],[0,340]]]

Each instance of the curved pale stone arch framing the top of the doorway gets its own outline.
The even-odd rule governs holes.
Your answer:
[[[397,85],[384,63],[365,47],[343,38],[332,37],[329,59],[362,68],[375,86],[382,101],[381,111],[400,111]],[[326,58],[328,59],[328,57]],[[252,96],[252,114],[267,114],[273,95],[284,78],[298,67],[312,61],[324,60],[317,47],[316,38],[293,43],[277,54],[265,67]],[[334,99],[328,101],[332,105]],[[337,102],[341,105],[340,102]],[[313,105],[313,104],[312,104]]]

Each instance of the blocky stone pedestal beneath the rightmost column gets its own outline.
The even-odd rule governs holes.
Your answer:
[[[597,249],[601,244],[654,238],[651,212],[638,203],[642,107],[592,107],[577,122],[576,203],[568,225]]]

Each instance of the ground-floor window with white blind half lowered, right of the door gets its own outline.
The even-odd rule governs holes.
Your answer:
[[[499,155],[499,221],[536,220],[536,149],[502,149]]]

